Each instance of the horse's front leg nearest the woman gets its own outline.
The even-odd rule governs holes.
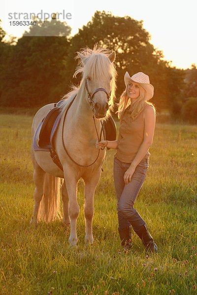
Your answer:
[[[100,172],[96,172],[91,179],[85,180],[85,208],[86,236],[85,241],[93,244],[92,221],[94,216],[94,196],[97,184],[99,182]]]

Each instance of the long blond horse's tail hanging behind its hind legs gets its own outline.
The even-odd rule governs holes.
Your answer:
[[[46,173],[43,183],[43,196],[38,210],[38,220],[50,222],[62,217],[60,187],[61,178]]]

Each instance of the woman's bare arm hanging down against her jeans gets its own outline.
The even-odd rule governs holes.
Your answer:
[[[151,147],[153,143],[154,130],[155,110],[152,107],[147,107],[144,114],[144,139],[135,158],[131,162],[130,168],[125,172],[124,180],[126,184],[131,181],[131,177],[135,171],[136,166],[141,162],[148,149]]]

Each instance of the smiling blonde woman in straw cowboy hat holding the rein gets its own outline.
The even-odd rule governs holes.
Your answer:
[[[155,129],[155,108],[148,100],[154,87],[142,72],[124,77],[126,89],[118,105],[120,130],[118,140],[100,141],[97,148],[117,149],[114,157],[114,184],[118,200],[119,235],[122,245],[131,248],[131,226],[148,252],[158,250],[145,221],[133,207],[145,180],[149,163],[149,148]]]

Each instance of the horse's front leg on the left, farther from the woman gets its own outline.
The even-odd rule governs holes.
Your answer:
[[[67,171],[68,172],[68,171]],[[77,202],[77,180],[69,171],[69,176],[65,175],[66,189],[68,194],[68,214],[70,217],[70,236],[69,243],[72,246],[77,244],[76,222],[79,216],[79,205]]]

